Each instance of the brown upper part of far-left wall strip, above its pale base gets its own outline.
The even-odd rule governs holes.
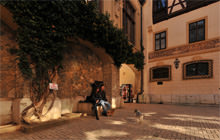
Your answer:
[[[0,26],[0,98],[15,97],[15,57],[9,52],[16,42],[12,31],[4,23]]]

